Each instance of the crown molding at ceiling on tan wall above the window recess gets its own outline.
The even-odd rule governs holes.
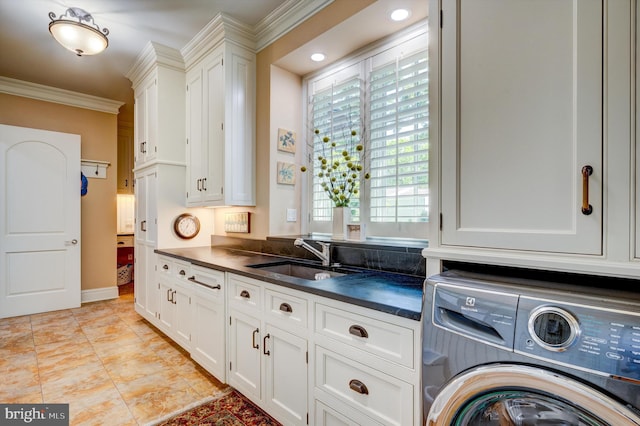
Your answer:
[[[282,3],[254,26],[256,52],[264,49],[333,2],[334,0],[287,0]]]

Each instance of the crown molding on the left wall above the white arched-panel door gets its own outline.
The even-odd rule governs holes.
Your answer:
[[[108,114],[118,114],[120,107],[124,105],[124,102],[114,101],[112,99],[85,95],[84,93],[72,92],[71,90],[58,89],[57,87],[45,86],[3,76],[0,76],[0,93],[77,108],[91,109]]]

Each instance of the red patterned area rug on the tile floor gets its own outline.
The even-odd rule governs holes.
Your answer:
[[[157,426],[280,426],[241,393],[228,394],[158,423]]]

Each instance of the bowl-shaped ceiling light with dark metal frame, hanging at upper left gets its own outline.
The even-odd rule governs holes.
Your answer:
[[[56,14],[49,12],[49,32],[58,43],[76,55],[96,55],[109,45],[109,30],[101,30],[86,10],[70,7],[64,15],[55,18]]]

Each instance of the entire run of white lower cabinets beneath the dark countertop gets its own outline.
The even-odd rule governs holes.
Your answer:
[[[283,425],[421,424],[419,321],[162,255],[156,281],[151,322]]]

